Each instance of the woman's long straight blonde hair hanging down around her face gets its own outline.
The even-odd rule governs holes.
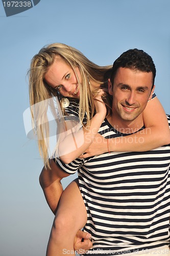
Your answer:
[[[32,58],[29,70],[29,94],[31,106],[38,102],[41,104],[41,101],[44,102],[53,96],[58,96],[57,90],[48,86],[44,80],[44,76],[48,71],[48,68],[56,60],[56,56],[60,56],[75,72],[80,87],[79,118],[83,124],[83,118],[86,115],[87,125],[89,125],[90,119],[95,111],[93,98],[97,93],[97,90],[93,89],[91,86],[96,83],[100,85],[107,82],[112,66],[98,66],[86,58],[77,49],[64,44],[55,43],[43,47],[39,53]],[[81,83],[76,72],[76,67],[78,67],[80,71]],[[43,108],[41,108],[41,111],[38,111],[36,117],[34,115],[34,111],[32,111],[33,122],[36,123],[36,127],[39,127],[38,133],[39,138],[41,139],[38,139],[38,146],[40,155],[44,160],[45,167],[50,167],[47,146],[44,141],[44,138],[48,137],[48,124],[45,121],[46,106],[43,105]],[[42,125],[42,123],[44,125]]]

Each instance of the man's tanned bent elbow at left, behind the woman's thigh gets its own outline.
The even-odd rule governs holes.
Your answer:
[[[56,214],[57,205],[63,192],[61,180],[69,174],[64,173],[54,162],[50,160],[51,169],[42,168],[39,182],[42,187],[45,199],[51,210]]]

